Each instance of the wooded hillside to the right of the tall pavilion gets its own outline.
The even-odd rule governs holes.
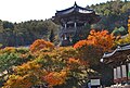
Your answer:
[[[107,29],[110,33],[115,27],[123,26],[127,29],[128,15],[130,15],[130,1],[107,1],[106,3],[100,3],[90,5],[102,20],[93,25],[93,28]]]

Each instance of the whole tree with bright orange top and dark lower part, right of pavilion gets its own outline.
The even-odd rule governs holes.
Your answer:
[[[92,29],[86,40],[78,41],[74,48],[79,51],[79,56],[90,62],[98,64],[105,51],[112,49],[114,36],[108,35],[107,30],[95,32]]]

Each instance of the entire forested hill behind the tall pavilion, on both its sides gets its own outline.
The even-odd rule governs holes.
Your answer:
[[[108,1],[106,3],[100,3],[87,8],[93,9],[102,16],[102,20],[98,24],[92,25],[91,28],[107,29],[116,35],[126,34],[128,14],[130,14],[130,1]],[[118,32],[117,28],[120,27],[123,27],[125,29]],[[49,38],[55,39],[56,41],[54,41],[57,43],[58,29],[58,26],[51,20],[27,21],[22,23],[0,21],[0,43],[2,43],[3,47],[28,46],[39,38],[46,40],[49,40]]]

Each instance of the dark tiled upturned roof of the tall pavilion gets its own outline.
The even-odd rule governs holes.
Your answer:
[[[81,8],[75,2],[75,4],[68,9],[56,11],[55,16],[52,17],[52,21],[56,24],[61,24],[63,23],[62,21],[66,20],[65,22],[67,22],[67,20],[69,21],[69,18],[73,17],[73,21],[79,17],[80,21],[88,21],[89,24],[98,23],[101,20],[100,15],[96,15],[93,10]]]

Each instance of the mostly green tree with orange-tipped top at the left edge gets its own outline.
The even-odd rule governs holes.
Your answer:
[[[0,49],[0,88],[1,85],[13,74],[13,68],[34,59],[27,48],[6,47]]]

